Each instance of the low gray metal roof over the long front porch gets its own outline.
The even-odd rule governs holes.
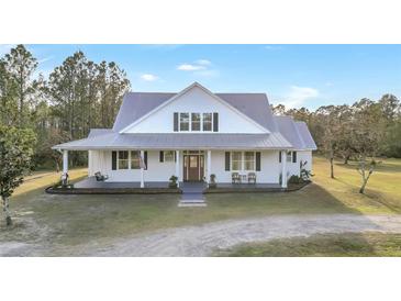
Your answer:
[[[271,134],[119,134],[96,135],[53,146],[54,149],[270,149],[291,148],[280,133]]]

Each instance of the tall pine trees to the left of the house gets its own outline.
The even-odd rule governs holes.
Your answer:
[[[37,58],[18,45],[0,57],[0,125],[35,134],[34,166],[57,166],[55,144],[83,138],[91,127],[111,127],[131,83],[114,62],[94,63],[82,52],[68,56],[45,78]],[[86,154],[71,154],[83,165]]]

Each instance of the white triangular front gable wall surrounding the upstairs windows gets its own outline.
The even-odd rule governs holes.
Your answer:
[[[269,133],[266,127],[199,83],[191,85],[120,131],[121,133],[172,133],[175,112],[218,112],[219,133]]]

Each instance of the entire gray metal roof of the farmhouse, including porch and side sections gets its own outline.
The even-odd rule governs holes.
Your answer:
[[[270,134],[171,133],[119,134],[177,93],[129,92],[124,96],[113,129],[92,129],[87,138],[54,146],[54,149],[316,149],[303,122],[274,116],[265,93],[215,93],[267,129]]]

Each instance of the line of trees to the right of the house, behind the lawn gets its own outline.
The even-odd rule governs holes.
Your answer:
[[[308,124],[318,152],[331,163],[332,178],[335,177],[335,158],[344,164],[357,160],[363,178],[360,192],[364,192],[378,157],[401,158],[401,107],[393,94],[385,94],[376,101],[364,98],[350,105],[323,105],[314,111],[286,109],[283,104],[271,108],[275,114],[290,115]]]

